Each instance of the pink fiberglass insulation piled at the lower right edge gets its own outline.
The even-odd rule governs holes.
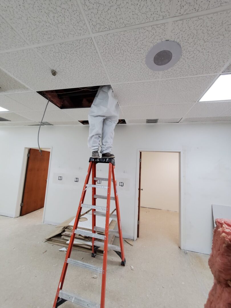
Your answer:
[[[231,308],[231,220],[216,219],[209,267],[214,284],[205,308]]]

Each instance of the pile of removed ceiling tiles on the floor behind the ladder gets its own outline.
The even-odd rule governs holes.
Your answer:
[[[98,227],[105,227],[105,219],[103,220],[102,218],[104,217],[96,217],[96,225]],[[60,245],[63,247],[68,247],[68,241],[70,240],[71,237],[71,231],[73,228],[73,224],[75,221],[75,217],[71,217],[67,219],[66,221],[63,221],[61,224],[57,225],[54,228],[54,231],[46,238],[47,242],[50,244],[55,244],[55,245]],[[79,224],[78,224],[78,229],[83,229],[87,231],[91,231],[91,214],[84,215],[84,217],[80,218]],[[116,221],[109,220],[109,229],[115,229],[117,225]],[[100,234],[103,234],[102,232],[98,232]],[[114,241],[115,235],[109,234],[108,237],[108,244],[112,244]],[[78,249],[82,251],[87,251],[91,253],[91,237],[83,236],[80,234],[75,234],[75,241],[73,245],[73,249]],[[97,241],[102,241],[97,239]],[[100,247],[98,250],[99,253],[103,253],[103,247]]]

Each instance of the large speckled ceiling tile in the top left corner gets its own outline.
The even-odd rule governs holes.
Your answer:
[[[29,44],[50,42],[87,34],[76,1],[2,0],[2,16]]]

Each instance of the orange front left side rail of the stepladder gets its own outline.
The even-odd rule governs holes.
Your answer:
[[[53,308],[56,308],[57,300],[58,300],[58,297],[59,297],[59,291],[62,290],[62,288],[63,288],[63,282],[64,282],[64,278],[65,278],[65,275],[66,275],[66,272],[67,272],[67,266],[68,266],[67,259],[70,258],[70,256],[71,256],[71,250],[72,250],[72,246],[73,246],[73,243],[74,243],[74,240],[75,240],[75,229],[77,228],[78,223],[79,223],[79,216],[80,216],[81,210],[82,210],[81,204],[83,203],[84,197],[85,197],[85,194],[86,194],[85,188],[86,188],[86,184],[88,183],[89,178],[90,178],[92,164],[93,164],[93,162],[90,162],[88,170],[87,170],[87,176],[86,176],[85,183],[83,185],[83,191],[82,191],[82,195],[81,195],[81,198],[80,198],[80,201],[79,201],[79,208],[78,208],[78,211],[77,211],[77,214],[76,214],[76,217],[75,217],[74,226],[73,226],[73,229],[72,229],[72,232],[71,232],[71,239],[70,239],[70,243],[68,245],[65,261],[64,261],[64,264],[63,264],[63,270],[62,270],[62,274],[61,274],[61,277],[60,277],[60,280],[59,280],[59,286],[58,286],[58,289],[57,289],[57,292],[56,292],[56,295],[55,295],[55,301],[54,301],[54,304],[53,304]]]

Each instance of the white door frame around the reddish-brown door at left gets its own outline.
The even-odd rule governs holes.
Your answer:
[[[21,211],[20,204],[22,202],[22,195],[23,195],[25,176],[26,176],[27,154],[29,152],[29,149],[39,150],[39,148],[34,148],[33,146],[25,147],[24,148],[23,158],[22,158],[22,169],[21,169],[21,175],[20,175],[20,180],[19,180],[19,188],[18,188],[18,198],[17,198],[17,203],[16,203],[16,209],[15,209],[14,217],[19,217],[20,216],[20,211]],[[48,191],[48,183],[49,183],[49,176],[50,176],[52,147],[43,147],[42,148],[42,150],[46,150],[46,149],[50,150],[50,159],[49,159],[48,172],[47,172],[47,186],[46,186],[46,193],[45,193],[45,201],[44,201],[44,210],[43,210],[43,220],[42,220],[42,223],[44,223],[45,210],[46,210],[46,204],[47,204],[47,191]]]

